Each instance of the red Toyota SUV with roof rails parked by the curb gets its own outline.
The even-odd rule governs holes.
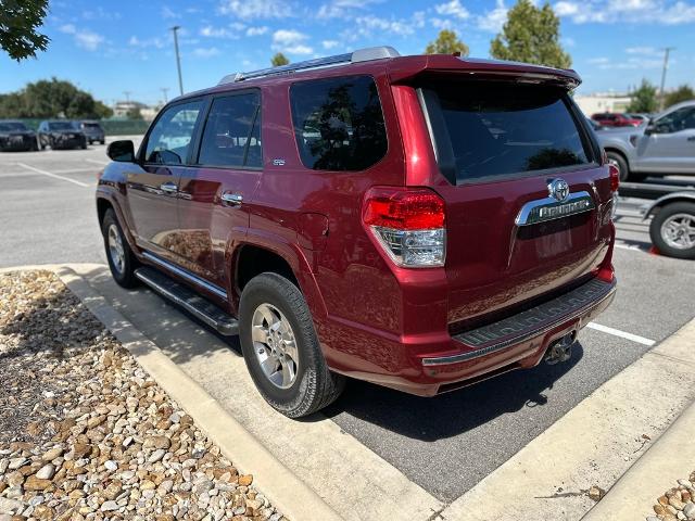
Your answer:
[[[572,71],[372,48],[168,103],[97,191],[109,264],[223,334],[290,417],[569,357],[610,303],[611,169]]]

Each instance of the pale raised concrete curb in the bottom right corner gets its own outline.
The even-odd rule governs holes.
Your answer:
[[[655,516],[652,506],[677,480],[695,468],[695,405],[691,405],[661,437],[630,467],[582,521],[633,521]]]

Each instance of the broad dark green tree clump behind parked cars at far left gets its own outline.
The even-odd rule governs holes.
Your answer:
[[[70,81],[41,79],[0,97],[0,117],[98,118],[111,110]]]

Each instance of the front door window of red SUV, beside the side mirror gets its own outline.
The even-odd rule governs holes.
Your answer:
[[[186,163],[202,105],[202,101],[191,101],[167,109],[150,132],[144,161],[162,165]]]

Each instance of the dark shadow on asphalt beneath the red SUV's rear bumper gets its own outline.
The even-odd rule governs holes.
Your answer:
[[[547,403],[544,392],[570,371],[583,354],[578,341],[572,346],[572,358],[566,363],[548,366],[542,361],[532,369],[507,372],[431,398],[349,380],[340,399],[323,412],[331,419],[338,419],[342,414],[354,416],[425,442],[447,439],[505,412],[544,406]]]

